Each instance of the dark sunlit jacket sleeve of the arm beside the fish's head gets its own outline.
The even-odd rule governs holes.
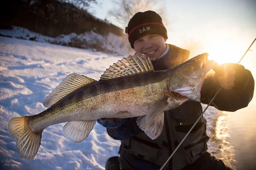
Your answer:
[[[240,78],[240,82],[235,81],[234,87],[237,88],[232,88],[231,90],[221,88],[220,92],[212,101],[211,106],[214,106],[219,110],[230,112],[247,107],[249,102],[252,100],[254,79],[252,77],[252,73],[246,69],[244,69],[244,75],[240,75],[240,77],[243,78]],[[212,78],[205,78],[201,90],[201,102],[209,104],[219,89],[219,82],[216,82]]]

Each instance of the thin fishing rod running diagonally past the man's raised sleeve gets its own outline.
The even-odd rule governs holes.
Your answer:
[[[254,41],[256,40],[256,38],[254,39]],[[252,41],[252,44],[254,43],[254,41]],[[246,52],[244,53],[244,55],[249,51],[249,49],[252,47],[252,44],[250,45],[250,47],[246,50]],[[242,56],[242,58],[239,60],[239,62],[237,64],[239,64],[242,59],[244,58],[244,55]],[[221,87],[220,87],[221,89]],[[178,148],[180,147],[180,145],[184,142],[184,140],[186,139],[186,137],[188,136],[188,134],[191,132],[191,130],[196,126],[196,123],[200,120],[200,118],[204,115],[204,112],[206,111],[206,109],[210,106],[210,104],[212,103],[212,101],[214,100],[214,98],[217,96],[217,94],[220,92],[220,89],[216,92],[216,94],[213,96],[212,100],[210,101],[210,103],[207,105],[207,107],[205,107],[203,113],[198,117],[198,119],[196,120],[196,122],[193,124],[193,126],[189,129],[188,133],[186,134],[186,136],[181,140],[180,144],[175,148],[175,150],[172,152],[172,154],[170,155],[170,157],[166,160],[166,162],[164,163],[164,165],[160,168],[160,170],[162,170],[164,168],[164,166],[168,163],[168,161],[172,158],[172,156],[174,155],[174,153],[178,150]]]

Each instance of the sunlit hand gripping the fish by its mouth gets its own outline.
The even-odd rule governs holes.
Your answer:
[[[224,89],[241,89],[247,80],[244,66],[235,63],[225,63],[213,67],[213,79]]]

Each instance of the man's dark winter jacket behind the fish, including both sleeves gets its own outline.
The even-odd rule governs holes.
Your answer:
[[[152,61],[154,70],[166,70],[188,60],[188,50],[173,45],[169,45],[169,47],[166,55],[157,61]],[[231,64],[230,66],[236,67],[240,74],[236,76],[236,88],[232,90],[221,89],[211,104],[224,111],[236,111],[246,107],[251,101],[254,91],[254,80],[251,72],[238,64]],[[201,102],[208,104],[219,88],[218,82],[206,78],[201,90]],[[122,142],[120,146],[122,168],[159,169],[201,113],[201,103],[192,100],[188,100],[180,107],[165,111],[163,131],[155,140],[151,140],[137,126],[137,117],[125,119],[119,127],[107,128],[107,132],[112,138]],[[206,152],[208,140],[206,120],[202,117],[165,167],[176,170],[192,164]]]

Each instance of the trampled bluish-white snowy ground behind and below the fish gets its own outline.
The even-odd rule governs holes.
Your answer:
[[[89,137],[78,144],[64,135],[62,127],[65,123],[46,128],[38,153],[31,161],[20,159],[16,141],[8,134],[6,124],[13,117],[35,115],[45,110],[45,97],[68,74],[75,72],[98,80],[109,65],[123,57],[89,49],[0,37],[1,169],[104,169],[106,160],[118,155],[120,141],[109,137],[106,129],[98,123]],[[213,107],[205,113],[207,133],[211,138],[215,136],[216,120],[221,114]],[[218,140],[221,143],[227,138]],[[226,159],[223,156],[225,153],[214,152],[218,145],[216,141],[210,140],[208,145],[215,156]],[[217,150],[223,150],[221,147],[218,146]],[[229,161],[228,158],[227,164]]]

